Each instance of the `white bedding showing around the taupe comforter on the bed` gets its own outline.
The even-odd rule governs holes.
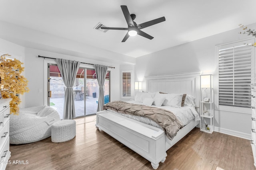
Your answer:
[[[135,102],[135,101],[129,101],[128,103],[143,105],[142,103]],[[192,121],[200,120],[200,117],[199,117],[198,113],[196,112],[196,109],[192,106],[184,106],[184,107],[177,108],[177,107],[171,107],[171,106],[154,106],[154,105],[152,105],[151,107],[158,107],[158,108],[162,108],[162,109],[171,111],[182,122],[182,124],[184,126]],[[108,111],[117,113],[116,111],[113,111],[110,109],[108,109]],[[124,114],[124,113],[117,113],[117,114],[125,116],[125,117],[129,117],[131,119],[134,119],[134,120],[137,120],[137,121],[140,121],[143,123],[146,123],[148,125],[152,125],[154,127],[162,128],[156,122],[152,121],[151,119],[148,119],[147,117],[140,117],[140,116]]]

